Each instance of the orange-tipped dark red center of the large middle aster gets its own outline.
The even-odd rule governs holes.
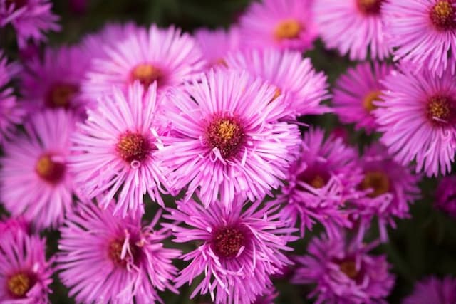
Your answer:
[[[214,117],[206,127],[207,144],[211,149],[217,148],[224,159],[234,157],[244,139],[244,128],[235,117]]]

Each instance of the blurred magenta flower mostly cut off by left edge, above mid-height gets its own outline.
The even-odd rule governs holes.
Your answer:
[[[14,135],[15,125],[21,124],[24,118],[24,110],[16,102],[13,88],[7,86],[19,70],[19,65],[8,63],[3,51],[0,51],[0,145]]]

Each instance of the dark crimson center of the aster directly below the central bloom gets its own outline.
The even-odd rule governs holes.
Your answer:
[[[226,227],[216,232],[214,252],[219,257],[234,258],[244,246],[245,236],[240,229]]]

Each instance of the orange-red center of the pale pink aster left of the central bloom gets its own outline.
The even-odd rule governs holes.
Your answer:
[[[152,150],[157,149],[144,135],[129,131],[120,135],[115,148],[120,158],[128,163],[142,162]]]

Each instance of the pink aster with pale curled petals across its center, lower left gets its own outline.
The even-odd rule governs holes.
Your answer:
[[[61,228],[57,256],[60,278],[78,303],[164,303],[157,290],[177,290],[170,280],[177,268],[176,249],[164,248],[165,229],[155,230],[140,218],[113,215],[113,210],[82,204]]]

